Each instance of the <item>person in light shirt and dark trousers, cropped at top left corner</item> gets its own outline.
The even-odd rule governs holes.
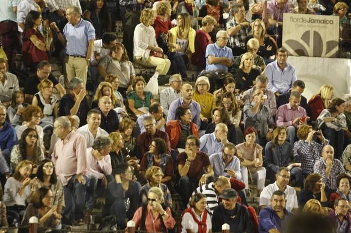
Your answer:
[[[19,0],[1,0],[0,34],[2,48],[7,56],[9,67],[18,53],[17,5]]]

